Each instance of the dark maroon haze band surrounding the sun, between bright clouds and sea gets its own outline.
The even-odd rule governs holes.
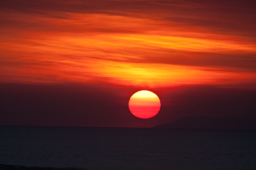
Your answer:
[[[139,88],[99,84],[0,84],[0,125],[153,127],[186,116],[256,116],[255,90],[214,86],[154,91],[162,107],[150,119],[133,116],[130,96]]]

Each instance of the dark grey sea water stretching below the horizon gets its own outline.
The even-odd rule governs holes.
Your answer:
[[[0,164],[33,166],[28,169],[256,170],[256,131],[0,126]]]

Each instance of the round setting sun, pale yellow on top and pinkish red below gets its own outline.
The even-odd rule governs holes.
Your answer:
[[[160,110],[161,102],[159,97],[148,90],[141,90],[134,93],[129,100],[130,112],[141,119],[154,117]]]

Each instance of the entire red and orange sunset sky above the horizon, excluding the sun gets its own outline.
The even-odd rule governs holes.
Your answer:
[[[0,2],[0,125],[152,127],[256,116],[256,2]],[[150,90],[161,109],[133,116]]]

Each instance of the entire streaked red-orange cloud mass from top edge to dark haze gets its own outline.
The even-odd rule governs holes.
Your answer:
[[[256,83],[255,12],[239,4],[12,3],[1,4],[2,82]]]

